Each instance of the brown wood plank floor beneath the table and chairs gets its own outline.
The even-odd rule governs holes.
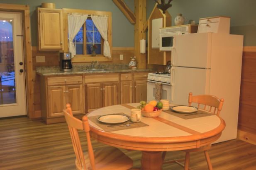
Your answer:
[[[83,148],[85,135],[80,133]],[[93,141],[93,148],[105,145]],[[126,151],[140,166],[140,151]],[[166,159],[184,158],[180,151],[168,152]],[[210,150],[214,170],[256,170],[256,146],[240,140],[214,144]],[[46,125],[27,117],[0,119],[0,170],[75,170],[75,155],[66,123]],[[207,170],[203,153],[192,153],[190,168]],[[176,164],[163,170],[182,170]]]

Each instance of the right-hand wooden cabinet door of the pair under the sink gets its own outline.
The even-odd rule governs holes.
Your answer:
[[[118,90],[119,90],[119,83],[102,83],[103,87],[103,107],[110,106],[110,105],[117,105],[119,104],[119,98],[118,98]]]

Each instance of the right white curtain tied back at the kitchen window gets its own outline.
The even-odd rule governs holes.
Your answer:
[[[93,20],[93,24],[96,26],[96,28],[99,30],[100,35],[104,39],[103,43],[103,55],[105,57],[111,57],[110,53],[110,45],[107,41],[107,16],[91,16]]]

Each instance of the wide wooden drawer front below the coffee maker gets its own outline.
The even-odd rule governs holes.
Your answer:
[[[70,76],[70,77],[48,77],[47,84],[51,85],[66,85],[66,84],[82,84],[82,76]]]

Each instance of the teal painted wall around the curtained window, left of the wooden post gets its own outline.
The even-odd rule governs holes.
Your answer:
[[[73,8],[84,10],[99,10],[112,12],[112,40],[114,47],[134,46],[134,26],[113,3],[112,0],[0,0],[0,3],[29,5],[31,17],[32,46],[37,46],[37,7],[41,3],[51,2],[56,8]],[[127,6],[133,10],[134,1],[125,0]]]

